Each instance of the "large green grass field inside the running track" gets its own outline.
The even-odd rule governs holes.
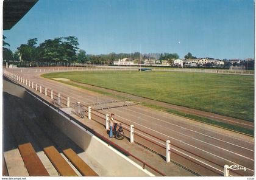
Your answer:
[[[254,77],[191,72],[80,71],[44,74],[239,119],[254,119]]]

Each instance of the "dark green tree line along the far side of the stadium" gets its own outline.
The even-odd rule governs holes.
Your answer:
[[[130,58],[138,63],[142,63],[142,59],[154,58],[157,60],[173,61],[179,58],[177,54],[164,53],[158,57],[158,54],[151,56],[149,54],[119,53],[112,52],[110,54],[90,55],[86,51],[79,49],[78,38],[76,36],[58,37],[54,39],[44,40],[38,44],[37,38],[27,40],[26,44],[21,44],[15,52],[8,47],[9,43],[5,42],[6,37],[3,36],[3,60],[19,61],[20,63],[46,63],[46,64],[72,64],[72,63],[91,63],[91,64],[113,64],[118,59]]]

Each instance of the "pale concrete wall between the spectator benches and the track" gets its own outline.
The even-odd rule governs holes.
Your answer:
[[[34,96],[25,92],[24,88],[4,83],[5,91],[11,92],[13,88],[18,91],[13,91],[13,95],[23,98],[26,102],[36,106],[40,110],[38,116],[44,116],[52,120],[66,136],[73,140],[80,148],[82,148],[88,156],[93,157],[94,161],[99,163],[99,167],[105,168],[100,176],[154,176],[147,170],[143,170],[140,165],[131,161],[124,154],[105,144],[98,137],[85,131],[84,128],[77,125],[75,122],[66,119],[55,109],[49,108],[48,105],[35,99]],[[17,93],[18,92],[18,93]],[[105,172],[105,173],[104,173]]]

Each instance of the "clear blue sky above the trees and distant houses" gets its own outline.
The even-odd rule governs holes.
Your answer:
[[[77,36],[87,54],[169,52],[253,58],[253,0],[39,0],[11,30],[10,49]]]

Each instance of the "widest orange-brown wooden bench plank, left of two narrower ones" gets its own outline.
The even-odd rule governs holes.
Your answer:
[[[18,145],[18,149],[30,176],[49,176],[30,143]]]

